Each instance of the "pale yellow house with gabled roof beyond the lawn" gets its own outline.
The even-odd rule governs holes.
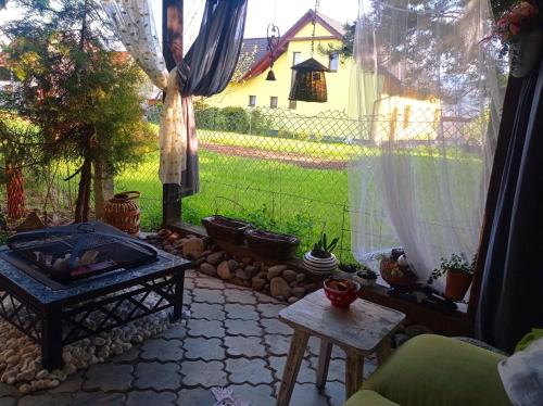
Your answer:
[[[315,35],[313,36],[313,21],[315,20]],[[354,60],[340,56],[333,52],[323,50],[341,49],[343,47],[344,26],[313,10],[307,11],[287,33],[285,33],[274,53],[274,66],[276,80],[266,80],[270,68],[270,53],[267,48],[266,38],[245,38],[240,54],[242,72],[219,94],[205,100],[205,104],[213,107],[241,106],[241,107],[265,107],[291,111],[300,116],[316,116],[323,120],[328,119],[327,111],[342,112],[344,117],[350,116],[357,119],[358,114],[368,116],[388,116],[387,125],[380,126],[374,123],[372,135],[369,138],[377,142],[384,140],[408,140],[417,137],[434,139],[438,136],[433,117],[440,113],[440,102],[437,100],[425,100],[424,98],[406,98],[400,96],[402,87],[400,79],[389,74],[387,77],[375,77],[372,73],[364,75],[365,106],[371,106],[368,111],[361,112],[357,106],[350,103],[350,88],[359,80]],[[314,40],[314,52],[312,55],[312,41]],[[329,68],[326,73],[328,100],[324,103],[303,102],[289,100],[289,93],[293,80],[292,66],[310,58],[316,59]],[[248,63],[248,59],[249,63]],[[390,89],[387,100],[377,100],[376,80],[384,80],[386,88]],[[351,114],[348,114],[351,112]],[[389,123],[391,115],[397,120],[390,132]],[[427,122],[422,124],[422,122]],[[413,126],[415,123],[416,126]],[[316,127],[328,127],[326,125]],[[352,126],[351,126],[352,128]],[[368,127],[365,127],[367,131]],[[352,132],[352,131],[350,131]],[[324,136],[324,135],[323,135]],[[353,134],[336,134],[336,137],[356,137]],[[363,135],[366,138],[368,135]]]

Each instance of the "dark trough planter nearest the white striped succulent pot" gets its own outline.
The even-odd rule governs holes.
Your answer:
[[[253,229],[245,231],[245,240],[254,254],[274,259],[292,258],[300,245],[300,240],[294,236]]]

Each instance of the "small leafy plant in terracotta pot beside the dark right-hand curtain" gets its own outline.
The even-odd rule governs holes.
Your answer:
[[[452,254],[451,258],[441,258],[438,269],[433,269],[429,283],[446,275],[445,297],[462,301],[473,279],[476,257],[469,263],[464,255]]]

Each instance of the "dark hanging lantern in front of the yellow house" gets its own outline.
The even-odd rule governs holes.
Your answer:
[[[289,100],[325,103],[328,100],[325,72],[330,72],[317,60],[307,61],[292,66],[294,80],[290,89]]]

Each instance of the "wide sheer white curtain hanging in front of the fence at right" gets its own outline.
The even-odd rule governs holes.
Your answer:
[[[502,91],[488,0],[359,0],[351,101],[352,249],[405,249],[426,281],[477,250]]]

